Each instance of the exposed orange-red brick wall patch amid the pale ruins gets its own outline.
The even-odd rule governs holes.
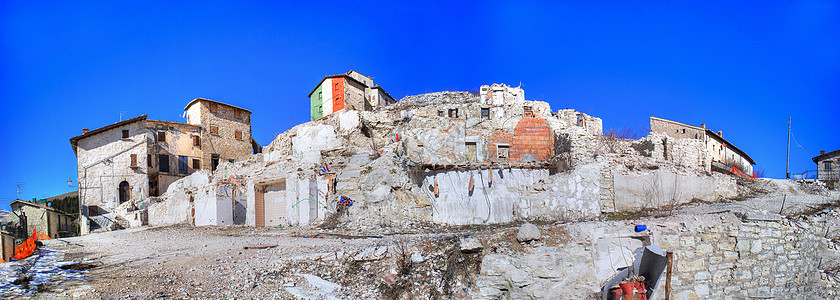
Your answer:
[[[543,118],[522,118],[514,129],[510,160],[522,161],[531,155],[537,161],[548,160],[554,155],[554,138]]]

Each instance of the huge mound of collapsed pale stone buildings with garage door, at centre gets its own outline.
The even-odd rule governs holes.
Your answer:
[[[149,223],[382,228],[580,220],[737,194],[735,179],[711,172],[706,140],[667,136],[663,146],[660,132],[605,137],[599,118],[524,100],[521,88],[484,86],[482,93],[408,96],[370,110],[333,106],[278,135],[263,153],[222,162],[224,172],[197,172],[149,199]]]

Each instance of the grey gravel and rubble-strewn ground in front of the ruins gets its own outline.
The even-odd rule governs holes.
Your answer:
[[[364,232],[178,225],[54,239],[45,242],[48,250],[43,258],[30,259],[29,267],[39,266],[42,276],[28,281],[37,284],[21,288],[9,280],[4,286],[9,292],[4,295],[50,299],[469,299],[476,296],[471,287],[483,280],[482,260],[529,257],[545,249],[557,252],[578,247],[585,251],[589,246],[572,241],[575,234],[567,232],[570,228],[587,232],[632,228],[639,222],[667,223],[672,218],[722,211],[736,215],[778,213],[775,210],[781,209],[783,201],[787,218],[820,212],[840,220],[840,214],[831,209],[840,199],[837,192],[773,180],[745,186],[749,188],[744,195],[750,198],[692,203],[648,216],[631,214],[624,216],[624,221],[537,224],[539,230],[531,235],[539,239],[533,241],[527,230],[523,233],[520,229],[521,223],[417,225],[411,230]],[[840,230],[835,231],[827,236],[840,239]],[[72,263],[87,266],[80,268],[83,271],[56,269]],[[826,274],[836,273],[836,269],[840,267],[832,267]],[[531,275],[510,280],[542,280]],[[592,296],[593,292],[584,289],[580,295]]]

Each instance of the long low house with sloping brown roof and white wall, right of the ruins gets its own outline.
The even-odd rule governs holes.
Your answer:
[[[669,149],[670,139],[662,139],[659,141],[661,145],[656,145],[656,148],[660,149],[659,146],[661,146],[663,153],[665,153],[665,159],[669,159],[669,155],[671,160],[690,158],[689,160],[694,161],[694,158],[696,158],[701,160],[701,164],[707,170],[730,173],[734,167],[745,176],[754,176],[753,165],[755,165],[755,161],[746,152],[725,140],[723,131],[709,130],[706,128],[706,124],[700,124],[700,127],[697,127],[657,117],[650,117],[650,131],[664,134],[673,139],[697,140],[702,145],[698,151],[690,150],[694,147],[685,147],[680,151],[670,151],[677,145],[685,144],[684,140],[671,140],[671,149]]]

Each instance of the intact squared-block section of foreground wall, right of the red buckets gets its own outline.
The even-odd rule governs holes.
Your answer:
[[[660,246],[674,251],[672,295],[678,299],[818,298],[819,264],[827,251],[821,225],[734,221],[663,232]]]

